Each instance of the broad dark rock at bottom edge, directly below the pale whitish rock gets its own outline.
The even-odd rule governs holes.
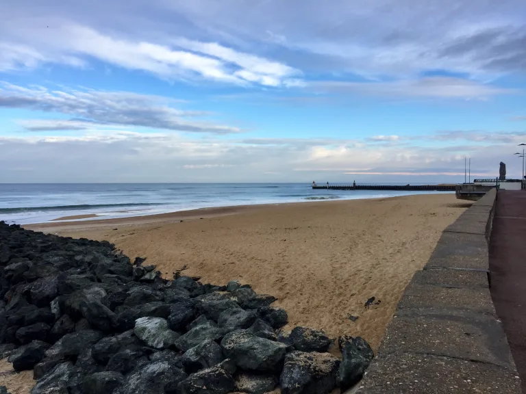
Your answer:
[[[177,384],[188,378],[186,373],[166,361],[155,361],[125,378],[115,394],[175,393]]]

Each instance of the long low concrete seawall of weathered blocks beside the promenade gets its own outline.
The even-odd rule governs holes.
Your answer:
[[[490,296],[496,198],[490,190],[444,230],[405,288],[356,393],[521,393]]]

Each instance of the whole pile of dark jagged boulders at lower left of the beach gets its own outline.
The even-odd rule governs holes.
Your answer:
[[[325,394],[358,382],[361,339],[280,329],[287,314],[250,286],[166,280],[106,241],[0,222],[0,356],[33,369],[32,394]]]

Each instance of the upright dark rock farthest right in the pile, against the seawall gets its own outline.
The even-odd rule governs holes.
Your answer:
[[[340,337],[338,345],[342,350],[342,363],[336,382],[343,390],[357,383],[373,360],[371,346],[361,337]]]

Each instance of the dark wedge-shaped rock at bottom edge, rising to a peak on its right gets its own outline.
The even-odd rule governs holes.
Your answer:
[[[234,391],[234,378],[228,360],[207,369],[192,373],[177,386],[178,394],[226,394]]]

